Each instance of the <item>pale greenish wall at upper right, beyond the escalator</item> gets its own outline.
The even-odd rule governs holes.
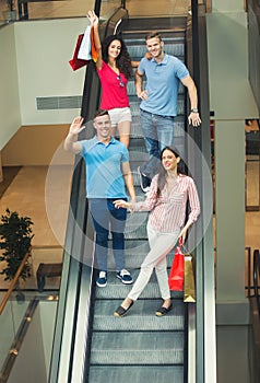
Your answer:
[[[247,14],[206,15],[210,107],[215,119],[258,118],[248,81]]]

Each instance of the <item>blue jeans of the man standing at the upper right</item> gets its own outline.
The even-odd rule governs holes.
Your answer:
[[[141,172],[152,179],[159,167],[161,151],[174,143],[174,117],[140,109],[140,119],[149,153],[149,161],[141,166]]]

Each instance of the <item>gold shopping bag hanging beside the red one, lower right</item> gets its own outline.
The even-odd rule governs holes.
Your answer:
[[[191,254],[185,254],[184,302],[196,302],[194,260]]]

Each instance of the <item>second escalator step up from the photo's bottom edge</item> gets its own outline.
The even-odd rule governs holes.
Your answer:
[[[91,364],[181,364],[182,332],[93,333]]]

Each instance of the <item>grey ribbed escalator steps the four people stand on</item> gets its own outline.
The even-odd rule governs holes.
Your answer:
[[[140,22],[140,21],[139,21]],[[139,31],[133,32],[135,21],[127,23],[122,37],[128,46],[132,59],[140,60],[145,48],[145,34],[155,25],[154,20],[149,23],[141,21]],[[146,25],[145,25],[146,24]],[[142,31],[140,31],[142,25]],[[147,30],[144,30],[147,27]],[[164,30],[158,30],[165,42],[165,51],[184,60],[185,33],[179,30],[170,31],[170,20],[164,20]],[[185,127],[185,93],[180,89],[178,117],[175,129],[179,132],[179,141],[184,140],[181,131]],[[146,159],[142,130],[139,119],[140,101],[135,95],[134,80],[128,85],[130,107],[133,114],[132,135],[130,142],[130,162],[134,176],[137,198],[143,199],[137,167]],[[180,140],[182,139],[182,140]],[[146,239],[146,212],[128,214],[126,227],[126,267],[132,270],[133,280],[137,279],[140,265],[149,252]],[[170,259],[173,256],[168,257]],[[113,254],[109,254],[113,259]],[[113,270],[110,265],[110,269]],[[108,272],[108,285],[105,289],[95,289],[93,300],[93,330],[90,359],[86,359],[86,382],[184,382],[186,363],[187,334],[186,307],[181,293],[173,294],[174,309],[165,317],[156,317],[155,311],[161,306],[159,291],[156,277],[153,275],[146,289],[134,303],[131,311],[123,318],[113,316],[116,307],[130,291],[131,286],[123,286],[116,272]]]

